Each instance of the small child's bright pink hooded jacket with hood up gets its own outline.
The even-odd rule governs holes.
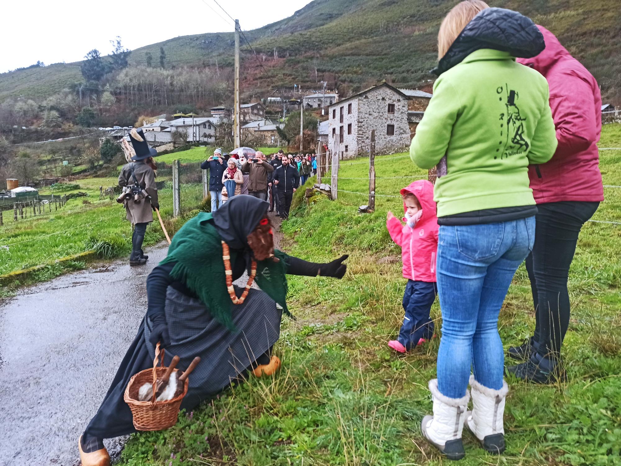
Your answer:
[[[414,228],[402,225],[399,218],[391,218],[386,228],[392,241],[401,246],[403,276],[420,282],[435,282],[435,257],[438,251],[438,217],[433,202],[433,184],[427,180],[414,181],[401,190],[411,192],[419,200],[422,216]],[[404,212],[406,203],[403,203]]]

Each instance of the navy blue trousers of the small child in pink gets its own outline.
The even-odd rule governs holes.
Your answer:
[[[433,320],[429,317],[429,311],[437,293],[435,282],[407,280],[406,292],[403,295],[406,315],[397,338],[407,351],[415,347],[421,338],[432,338]]]

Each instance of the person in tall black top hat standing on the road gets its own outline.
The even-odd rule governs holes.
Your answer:
[[[131,189],[124,200],[127,220],[134,225],[130,266],[140,266],[147,262],[148,256],[142,251],[142,241],[145,239],[148,223],[153,222],[152,210],[160,208],[155,186],[157,167],[153,162],[157,151],[148,146],[144,136],[142,129],[132,128],[130,131],[129,140],[136,155],[132,157],[132,162],[123,166],[119,175],[119,186]]]

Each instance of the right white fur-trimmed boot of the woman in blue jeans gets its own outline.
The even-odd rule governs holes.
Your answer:
[[[504,406],[509,387],[502,381],[500,390],[481,385],[470,376],[472,411],[466,413],[466,426],[489,453],[501,454],[505,450]]]

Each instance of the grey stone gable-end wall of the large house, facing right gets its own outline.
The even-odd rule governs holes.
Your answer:
[[[368,153],[371,130],[375,130],[375,150],[378,154],[398,151],[409,145],[408,101],[404,97],[384,86],[367,92],[358,102],[358,154]],[[388,104],[394,104],[394,114],[388,113]],[[392,136],[387,134],[388,125],[394,125]]]

